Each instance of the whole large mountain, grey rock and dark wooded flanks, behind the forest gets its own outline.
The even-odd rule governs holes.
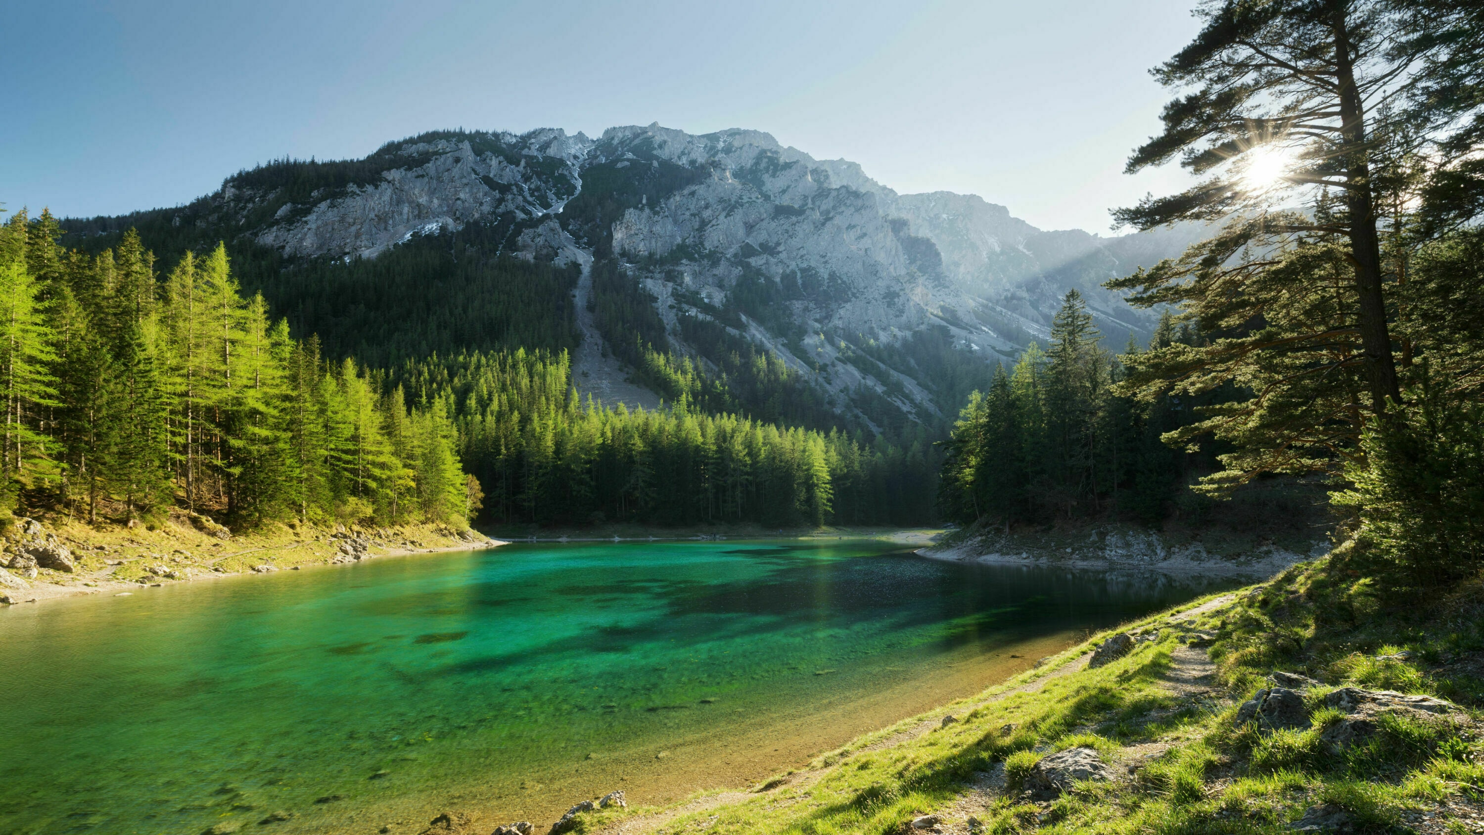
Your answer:
[[[433,335],[417,344],[444,353],[510,347],[521,341],[510,328],[533,332],[533,317],[551,317],[555,335],[527,347],[574,349],[583,389],[651,406],[674,395],[660,378],[681,372],[654,366],[646,344],[729,380],[772,354],[795,380],[791,399],[807,389],[816,412],[871,430],[954,414],[993,360],[1049,335],[1071,288],[1114,347],[1147,340],[1153,316],[1101,282],[1177,255],[1199,233],[1043,231],[974,194],[898,194],[856,163],[816,160],[763,132],[659,125],[597,139],[423,133],[362,160],[243,171],[178,209],[65,224],[93,246],[126,225],[166,261],[172,248],[227,239],[243,283],[300,319],[298,332],[334,332],[337,308],[359,310],[365,297],[386,297],[377,326],[387,340],[421,331]],[[470,258],[484,267],[470,271]],[[429,277],[399,285],[404,295],[436,298],[395,314],[398,294],[383,285],[414,273]],[[490,314],[519,322],[479,322],[470,311],[503,310],[469,301],[481,292],[540,301]],[[450,317],[462,323],[427,323]],[[359,350],[374,354],[372,343]],[[763,409],[764,389],[733,405]],[[813,414],[785,412],[775,417]]]

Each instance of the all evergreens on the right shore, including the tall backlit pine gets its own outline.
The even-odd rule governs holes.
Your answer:
[[[1045,352],[971,397],[939,506],[981,528],[1303,478],[1393,592],[1484,565],[1484,15],[1454,3],[1214,3],[1128,172],[1199,178],[1114,218],[1209,224],[1112,279],[1163,311],[1101,347],[1068,294]],[[1186,489],[1189,486],[1189,491]]]

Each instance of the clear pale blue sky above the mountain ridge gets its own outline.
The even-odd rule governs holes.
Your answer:
[[[1122,174],[1193,0],[211,0],[7,4],[0,202],[171,206],[282,156],[438,128],[752,128],[1042,228],[1186,182]]]

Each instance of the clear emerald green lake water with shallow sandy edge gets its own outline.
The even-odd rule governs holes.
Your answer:
[[[0,832],[418,832],[741,786],[1215,587],[864,540],[603,543],[9,607]]]

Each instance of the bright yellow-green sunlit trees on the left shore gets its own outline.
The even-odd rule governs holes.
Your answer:
[[[467,515],[444,403],[408,415],[380,377],[295,343],[224,245],[160,282],[132,231],[95,257],[59,234],[45,214],[0,230],[6,510],[24,489],[89,521],[175,503],[248,525]]]

